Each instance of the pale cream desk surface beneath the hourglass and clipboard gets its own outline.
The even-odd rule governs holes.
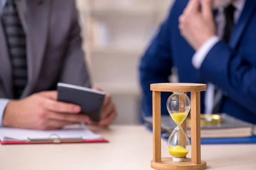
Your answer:
[[[0,145],[0,170],[151,170],[152,133],[145,127],[93,131],[110,143]],[[162,157],[169,156],[165,146],[162,140]],[[256,144],[202,145],[201,151],[207,170],[256,169]]]

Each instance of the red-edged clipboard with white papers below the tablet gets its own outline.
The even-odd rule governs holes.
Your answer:
[[[1,144],[30,143],[84,143],[108,142],[101,135],[85,129],[82,125],[66,126],[61,130],[27,130],[0,128]]]

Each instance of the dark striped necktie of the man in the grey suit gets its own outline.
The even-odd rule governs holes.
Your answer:
[[[3,8],[2,23],[12,63],[14,97],[18,99],[27,83],[26,34],[13,0],[7,0]]]

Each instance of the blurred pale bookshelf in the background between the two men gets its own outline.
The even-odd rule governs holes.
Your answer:
[[[93,86],[111,93],[116,124],[140,122],[138,66],[173,0],[76,0]]]

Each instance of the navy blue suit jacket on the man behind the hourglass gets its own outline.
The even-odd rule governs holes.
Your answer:
[[[188,0],[176,0],[140,61],[143,112],[152,115],[151,83],[169,82],[172,67],[180,82],[212,82],[223,91],[221,113],[256,124],[256,0],[247,0],[229,44],[218,42],[199,70],[192,66],[195,50],[180,35],[178,17]],[[161,93],[161,112],[168,114],[169,93]],[[201,92],[201,113],[204,113]]]

